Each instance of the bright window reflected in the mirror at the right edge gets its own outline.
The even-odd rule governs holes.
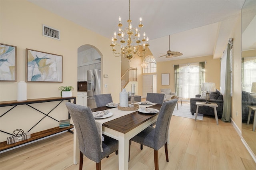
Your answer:
[[[252,83],[256,82],[256,57],[242,58],[242,90],[251,92]]]

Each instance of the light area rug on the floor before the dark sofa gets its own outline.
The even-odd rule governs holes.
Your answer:
[[[179,102],[178,107],[179,107],[179,110],[177,109],[177,105],[176,105],[172,115],[179,116],[179,117],[186,117],[186,118],[190,118],[190,119],[195,119],[196,113],[194,113],[194,115],[191,115],[191,112],[190,112],[190,102],[182,101],[182,106],[181,106],[181,103]],[[203,114],[198,113],[196,120],[201,120],[202,121],[203,117],[204,117]]]

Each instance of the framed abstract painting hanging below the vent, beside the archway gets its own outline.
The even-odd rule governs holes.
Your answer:
[[[26,48],[26,82],[62,82],[62,55]]]

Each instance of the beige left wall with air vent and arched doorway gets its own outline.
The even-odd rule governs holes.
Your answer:
[[[60,96],[58,87],[65,85],[73,86],[75,88],[73,96],[76,96],[77,49],[84,44],[93,45],[102,53],[101,73],[102,75],[109,75],[109,78],[102,78],[102,85],[108,84],[107,88],[102,88],[102,93],[111,93],[113,100],[119,101],[121,59],[120,57],[113,56],[110,39],[74,24],[28,1],[0,1],[0,17],[0,42],[17,46],[17,82],[0,82],[0,101],[17,99],[17,83],[25,81],[26,48],[63,55],[63,83],[27,83],[28,99]],[[42,24],[60,30],[60,41],[42,36]],[[42,108],[44,113],[48,113],[54,107],[54,102],[34,105],[36,108]],[[67,116],[66,107],[64,104],[58,107],[60,109],[50,114],[56,119],[64,119]],[[8,108],[10,109],[10,107],[1,107],[1,115]],[[1,130],[4,129],[12,133],[16,128],[23,128],[24,131],[27,131],[32,127],[30,123],[33,124],[42,118],[41,113],[35,113],[25,105],[16,108],[12,113],[1,117]],[[12,121],[5,121],[7,118],[10,118]],[[18,118],[18,120],[13,118]],[[50,118],[45,120],[30,132],[58,126],[58,122]],[[1,141],[2,138],[6,140],[8,136],[10,135],[5,135],[1,132]]]

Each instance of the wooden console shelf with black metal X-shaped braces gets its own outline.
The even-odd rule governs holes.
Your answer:
[[[69,102],[71,102],[71,100],[74,100],[73,101],[73,103],[76,103],[76,97],[49,97],[49,98],[41,98],[41,99],[28,99],[28,100],[26,100],[26,101],[1,101],[0,102],[0,107],[6,107],[6,106],[13,106],[10,110],[8,110],[8,111],[6,111],[6,113],[4,113],[3,115],[1,115],[0,117],[3,117],[5,114],[7,114],[9,111],[11,111],[14,107],[16,107],[16,106],[18,106],[18,105],[28,105],[29,107],[32,107],[32,106],[30,106],[29,104],[34,104],[34,103],[44,103],[44,102],[52,102],[52,101],[60,101],[60,103],[62,103],[62,101],[64,101],[64,100],[68,100]],[[59,103],[59,104],[60,104]],[[59,105],[58,104],[58,105]],[[56,107],[58,106],[58,105],[56,105]],[[54,107],[52,110],[54,110],[56,107]],[[34,107],[32,107],[33,109],[35,109]],[[38,111],[38,112],[40,112],[40,113],[43,113],[43,112],[41,112],[41,111],[39,111],[38,109],[35,109],[36,111]],[[51,110],[51,111],[52,111]],[[50,112],[51,112],[50,111]],[[49,113],[50,113],[49,112]],[[49,114],[48,113],[48,114]],[[50,117],[48,114],[45,114],[45,113],[43,113],[45,116],[44,116],[44,118],[45,117]],[[43,119],[44,119],[43,118]],[[52,118],[52,117],[50,117],[50,118]],[[54,118],[52,118],[52,119],[54,119]],[[70,114],[68,113],[68,119],[70,119]],[[56,120],[56,119],[54,119],[55,121],[58,121],[58,120]],[[42,121],[42,119],[40,120],[40,121]],[[39,121],[39,122],[40,122]],[[38,122],[38,123],[39,123]],[[58,121],[59,122],[59,121]],[[36,123],[36,125],[38,124],[38,123]],[[36,125],[34,125],[34,127],[36,126]],[[33,128],[33,127],[32,127]],[[31,129],[32,129],[31,128]],[[20,142],[16,142],[16,143],[14,143],[14,144],[7,144],[7,142],[6,141],[4,141],[4,142],[1,142],[0,143],[0,152],[2,152],[2,151],[4,151],[4,150],[6,150],[6,149],[10,149],[10,148],[13,148],[13,147],[15,147],[15,146],[19,146],[19,145],[22,145],[22,144],[25,144],[25,143],[28,143],[28,142],[32,142],[32,141],[34,141],[34,140],[38,140],[38,139],[40,139],[40,138],[44,138],[44,137],[47,137],[47,136],[51,136],[51,135],[53,135],[53,134],[57,134],[57,133],[59,133],[59,132],[63,132],[63,131],[65,131],[65,130],[68,130],[68,131],[70,131],[70,129],[71,128],[74,128],[74,126],[73,125],[70,125],[70,127],[66,127],[66,128],[59,128],[59,127],[54,127],[54,128],[50,128],[50,129],[47,129],[47,130],[43,130],[43,131],[40,131],[40,132],[36,132],[36,133],[33,133],[33,134],[31,134],[31,138],[29,138],[29,139],[27,139],[27,140],[22,140],[22,141],[20,141]],[[30,129],[30,130],[31,130]],[[0,130],[1,132],[4,132],[4,131],[2,131],[2,130]],[[28,130],[29,131],[29,130]],[[70,132],[72,132],[72,131],[70,131]],[[4,132],[4,133],[7,133],[7,134],[10,134],[10,133],[8,133],[8,132]],[[12,135],[12,134],[10,134],[10,135]]]

